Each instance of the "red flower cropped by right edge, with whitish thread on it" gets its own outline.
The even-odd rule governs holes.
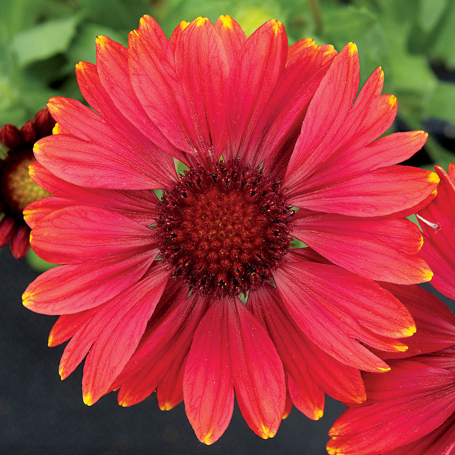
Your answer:
[[[431,284],[455,299],[455,164],[448,173],[435,166],[440,183],[436,198],[417,213],[425,242],[419,255],[430,265]]]

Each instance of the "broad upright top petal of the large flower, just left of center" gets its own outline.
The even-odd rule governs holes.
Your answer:
[[[228,140],[224,114],[228,56],[207,18],[195,19],[181,33],[175,66],[198,139],[200,161],[218,161]]]

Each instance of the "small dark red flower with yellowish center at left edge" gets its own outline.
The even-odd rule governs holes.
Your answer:
[[[0,129],[0,143],[7,153],[0,159],[0,248],[9,242],[16,259],[30,249],[30,228],[22,210],[37,199],[50,196],[30,178],[28,165],[35,161],[33,144],[52,134],[54,125],[49,111],[41,109],[21,129],[11,124]]]

